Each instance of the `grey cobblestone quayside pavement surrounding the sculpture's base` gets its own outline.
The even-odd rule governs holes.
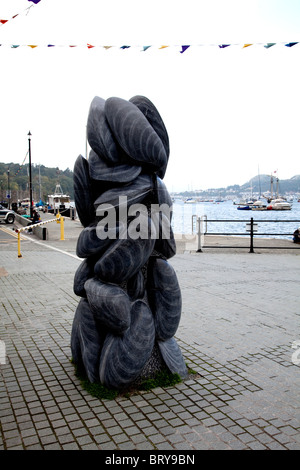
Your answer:
[[[299,255],[176,255],[176,338],[198,375],[99,400],[70,362],[80,260],[68,243],[22,240],[22,258],[16,239],[0,243],[1,450],[300,449]]]

